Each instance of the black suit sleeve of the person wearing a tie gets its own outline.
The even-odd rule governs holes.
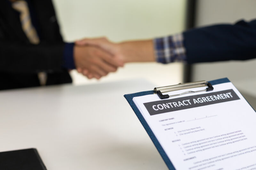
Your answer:
[[[62,71],[64,43],[39,45],[0,40],[0,70],[13,73]]]

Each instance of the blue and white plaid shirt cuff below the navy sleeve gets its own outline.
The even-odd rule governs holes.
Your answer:
[[[154,39],[156,61],[159,63],[186,62],[186,49],[183,45],[183,34]]]

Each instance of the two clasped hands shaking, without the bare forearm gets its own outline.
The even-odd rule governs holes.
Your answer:
[[[109,72],[124,66],[124,60],[117,44],[106,38],[83,39],[74,47],[76,69],[87,78],[100,79]]]

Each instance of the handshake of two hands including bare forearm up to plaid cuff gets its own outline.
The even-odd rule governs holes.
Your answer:
[[[100,79],[127,62],[155,61],[153,41],[113,43],[106,38],[82,39],[75,43],[74,61],[79,73]]]

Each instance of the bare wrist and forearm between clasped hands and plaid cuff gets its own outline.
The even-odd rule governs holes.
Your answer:
[[[153,40],[124,41],[119,46],[125,63],[156,61]]]

